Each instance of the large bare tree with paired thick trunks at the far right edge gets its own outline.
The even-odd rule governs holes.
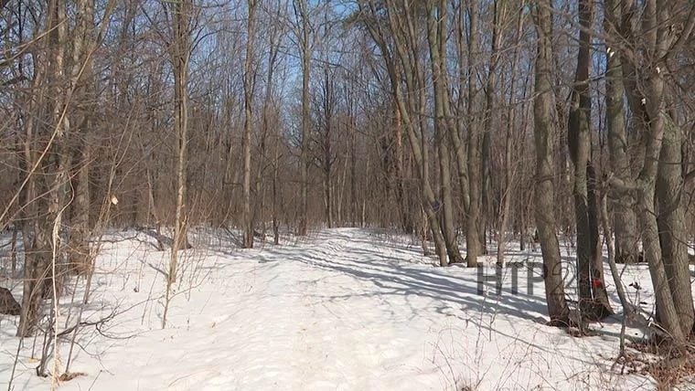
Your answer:
[[[683,27],[672,31],[668,21],[676,2],[658,3],[623,2],[620,21],[609,20],[619,26],[614,50],[621,56],[627,101],[642,135],[644,153],[636,179],[625,181],[613,176],[611,184],[622,194],[636,195],[642,248],[655,290],[658,320],[668,338],[682,344],[692,333],[693,301],[683,246],[683,176],[678,147],[682,133],[670,106],[674,98],[668,78],[670,72],[679,69],[674,58],[692,36],[695,7],[685,5],[685,12],[679,13],[687,16]],[[613,15],[606,13],[608,17]]]

